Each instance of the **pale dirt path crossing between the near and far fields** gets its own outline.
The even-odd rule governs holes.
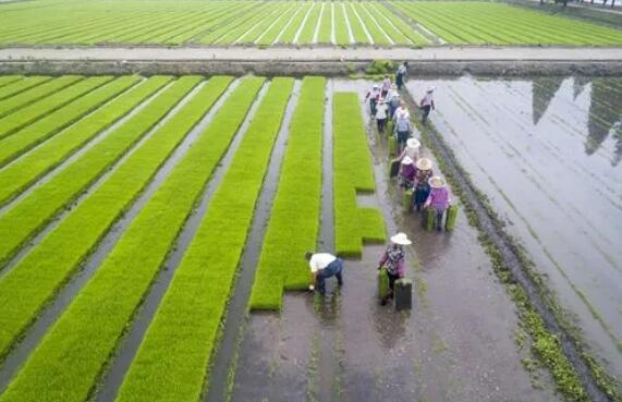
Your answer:
[[[240,60],[240,61],[365,61],[375,59],[414,61],[620,61],[622,48],[554,47],[430,47],[378,49],[336,47],[257,49],[231,48],[5,48],[0,61],[19,60]]]

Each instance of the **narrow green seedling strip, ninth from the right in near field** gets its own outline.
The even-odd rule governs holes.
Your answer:
[[[45,117],[81,96],[97,89],[112,78],[112,76],[98,76],[82,80],[68,88],[49,95],[46,98],[23,108],[19,113],[12,113],[0,119],[0,139],[16,133],[20,129],[32,124],[41,117]],[[0,143],[0,148],[2,148],[1,144],[2,143]]]

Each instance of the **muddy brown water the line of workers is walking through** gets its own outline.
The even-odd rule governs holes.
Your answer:
[[[370,83],[329,86],[363,99]],[[387,176],[387,139],[364,115],[377,192],[359,204],[379,208],[389,232],[414,239],[407,272],[416,281],[414,308],[379,305],[375,268],[383,246],[365,247],[361,260],[345,263],[342,289],[329,281],[324,300],[291,293],[280,315],[251,316],[233,401],[558,400],[546,375],[538,380],[544,389],[532,387],[514,343],[514,306],[475,230],[461,216],[451,235],[424,232],[420,217],[402,210]],[[331,222],[324,218],[322,232]]]

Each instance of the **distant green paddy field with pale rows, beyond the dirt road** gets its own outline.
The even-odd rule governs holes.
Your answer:
[[[35,0],[0,46],[620,46],[622,29],[476,1]]]

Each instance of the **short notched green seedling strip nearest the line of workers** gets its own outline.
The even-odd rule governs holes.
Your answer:
[[[383,243],[386,231],[378,209],[357,206],[357,192],[374,192],[376,183],[356,94],[334,94],[332,130],[336,251],[359,257],[363,242]]]

